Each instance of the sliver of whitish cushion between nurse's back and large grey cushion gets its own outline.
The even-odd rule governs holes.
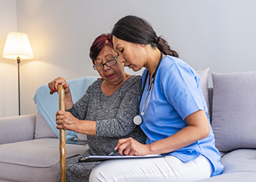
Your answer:
[[[207,108],[209,110],[209,99],[208,99],[208,71],[210,68],[205,68],[203,70],[197,70],[197,74],[200,77],[200,88],[203,92],[203,96],[206,99]],[[210,116],[210,112],[208,111]]]

